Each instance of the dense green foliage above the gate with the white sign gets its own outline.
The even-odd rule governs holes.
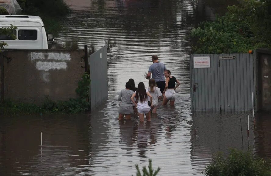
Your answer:
[[[213,22],[201,22],[191,36],[198,40],[194,53],[247,53],[270,48],[270,33],[271,1],[243,0]]]

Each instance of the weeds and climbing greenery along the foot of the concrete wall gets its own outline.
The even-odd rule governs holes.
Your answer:
[[[0,104],[0,114],[77,114],[85,112],[89,107],[90,81],[89,73],[85,73],[78,82],[78,88],[76,89],[78,98],[70,98],[68,101],[52,101],[46,97],[45,102],[41,106],[34,103],[5,101]]]

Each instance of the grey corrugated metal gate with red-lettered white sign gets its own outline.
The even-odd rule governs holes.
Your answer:
[[[253,54],[191,55],[190,63],[192,111],[252,110]]]

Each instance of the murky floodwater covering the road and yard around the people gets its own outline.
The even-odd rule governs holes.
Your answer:
[[[132,175],[152,159],[159,175],[202,175],[217,151],[229,147],[271,158],[271,120],[251,112],[191,113],[187,35],[199,21],[212,19],[200,0],[66,0],[74,12],[56,39],[96,49],[109,40],[108,100],[91,114],[0,118],[0,175]],[[129,78],[144,73],[157,54],[181,81],[175,106],[160,106],[151,123],[138,117],[117,120],[117,96]],[[240,121],[241,119],[241,121]],[[241,126],[242,124],[242,126]],[[42,147],[41,147],[42,132]]]

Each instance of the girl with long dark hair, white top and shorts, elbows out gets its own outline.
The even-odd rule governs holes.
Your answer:
[[[150,98],[151,106],[148,105],[148,97]],[[137,103],[134,101],[134,97]],[[137,108],[138,116],[140,122],[144,122],[144,114],[146,115],[147,121],[151,121],[151,107],[152,107],[152,95],[145,89],[143,82],[140,82],[137,86],[137,90],[131,97],[131,101],[135,104]]]

